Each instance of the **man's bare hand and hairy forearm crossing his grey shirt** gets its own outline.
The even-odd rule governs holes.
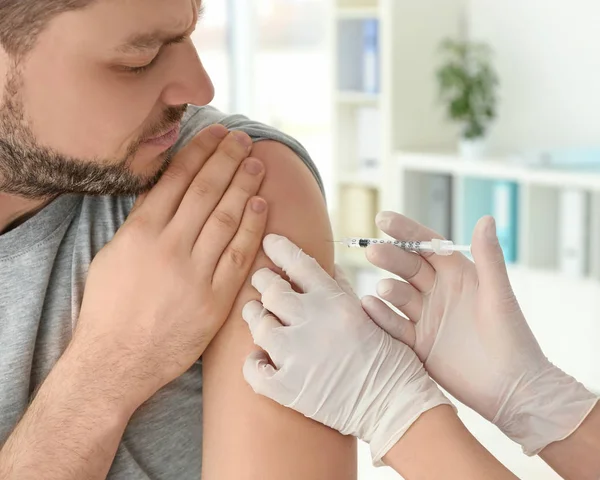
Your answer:
[[[133,412],[200,357],[264,235],[250,149],[209,127],[138,199],[92,262],[73,340],[2,446],[0,478],[106,478]]]

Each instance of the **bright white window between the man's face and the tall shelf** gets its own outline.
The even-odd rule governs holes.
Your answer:
[[[328,0],[204,0],[193,40],[216,108],[292,135],[310,152],[328,196],[331,80]]]

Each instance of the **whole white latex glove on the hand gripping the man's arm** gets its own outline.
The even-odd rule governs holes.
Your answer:
[[[381,465],[423,412],[450,402],[414,352],[371,321],[341,273],[338,283],[284,237],[269,235],[263,247],[303,293],[269,269],[254,274],[262,304],[242,315],[273,363],[253,352],[244,377],[256,393],[368,442]]]

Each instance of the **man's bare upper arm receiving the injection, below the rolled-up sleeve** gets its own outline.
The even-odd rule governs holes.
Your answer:
[[[255,144],[267,169],[260,195],[269,203],[267,233],[290,238],[333,272],[333,244],[323,196],[302,161],[276,142]],[[273,264],[261,252],[252,273]],[[232,313],[203,355],[203,480],[351,480],[356,444],[301,414],[255,394],[242,366],[256,348],[242,320],[259,299],[247,281]]]

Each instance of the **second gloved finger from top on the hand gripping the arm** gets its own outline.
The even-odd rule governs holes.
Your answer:
[[[268,268],[252,276],[252,285],[261,294],[263,306],[274,313],[283,325],[298,325],[303,320],[300,295],[289,282]]]

